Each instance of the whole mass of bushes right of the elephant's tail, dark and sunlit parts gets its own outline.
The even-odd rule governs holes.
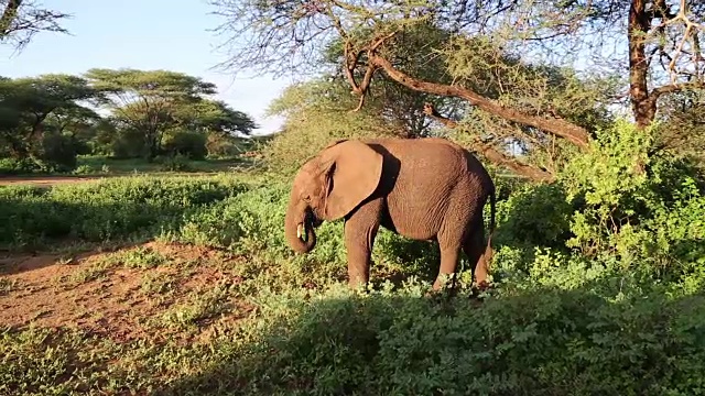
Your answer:
[[[499,274],[541,276],[557,266],[577,271],[573,277],[603,267],[697,289],[705,185],[688,163],[653,154],[653,145],[650,130],[619,121],[598,131],[555,184],[500,201]]]

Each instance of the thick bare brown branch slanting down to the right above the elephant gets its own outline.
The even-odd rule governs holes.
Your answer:
[[[375,53],[370,54],[369,59],[371,65],[380,67],[391,79],[410,89],[438,96],[463,98],[470,102],[470,105],[477,106],[480,110],[496,114],[509,121],[538,128],[558,138],[563,138],[581,148],[587,148],[589,140],[587,131],[571,122],[562,119],[545,119],[506,108],[467,88],[422,81],[395,69],[389,61]]]

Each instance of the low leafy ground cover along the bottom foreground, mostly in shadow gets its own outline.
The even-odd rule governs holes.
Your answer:
[[[592,285],[595,288],[597,284]],[[599,287],[597,287],[599,289]],[[697,395],[705,296],[618,288],[508,290],[485,301],[425,288],[260,292],[260,315],[207,343],[113,344],[56,330],[6,331],[4,393]],[[633,292],[633,290],[631,290]],[[176,329],[227,310],[228,288],[162,317]],[[159,381],[154,381],[159,377]]]

